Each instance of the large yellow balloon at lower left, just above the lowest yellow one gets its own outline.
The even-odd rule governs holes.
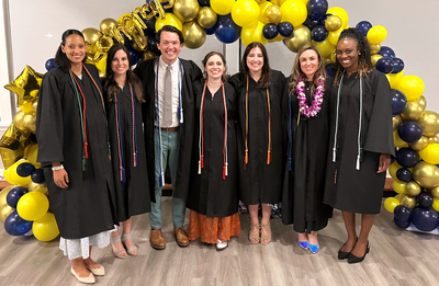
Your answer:
[[[48,209],[47,196],[40,192],[29,192],[24,194],[16,204],[16,211],[25,220],[36,220],[42,218]]]

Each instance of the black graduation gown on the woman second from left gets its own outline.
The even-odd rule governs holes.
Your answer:
[[[133,90],[134,92],[134,90]],[[134,94],[133,94],[134,95]],[[106,99],[106,96],[105,96]],[[125,169],[125,182],[121,181],[120,156],[117,145],[117,125],[115,116],[115,101],[106,102],[109,118],[109,135],[111,158],[114,173],[115,205],[120,221],[130,217],[150,211],[150,195],[148,173],[146,171],[145,142],[142,127],[142,103],[134,95],[135,139],[137,147],[137,164],[133,164],[133,118],[130,85],[126,84],[117,92],[121,157]]]

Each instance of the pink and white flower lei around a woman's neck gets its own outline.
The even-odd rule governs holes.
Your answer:
[[[318,77],[314,101],[311,106],[306,104],[305,80],[302,77],[299,77],[297,84],[295,85],[295,91],[297,93],[299,100],[299,112],[306,117],[317,116],[317,113],[320,111],[323,102],[323,93],[325,92],[325,78],[323,76]]]

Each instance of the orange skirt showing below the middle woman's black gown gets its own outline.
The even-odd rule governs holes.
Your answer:
[[[201,238],[202,242],[215,244],[216,239],[230,240],[240,234],[239,214],[228,217],[206,217],[191,210],[189,221],[189,240]]]

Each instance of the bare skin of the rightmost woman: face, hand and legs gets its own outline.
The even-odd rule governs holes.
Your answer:
[[[361,55],[358,48],[358,42],[353,38],[341,38],[337,43],[336,56],[337,60],[345,68],[346,73],[350,77],[352,73],[359,71],[359,56]],[[385,172],[391,163],[391,156],[382,153],[380,156],[379,167],[376,173]],[[369,244],[369,232],[372,229],[376,215],[361,215],[361,230],[357,236],[356,230],[356,214],[342,211],[345,227],[348,232],[348,240],[341,247],[341,251],[351,252],[353,255],[361,258],[365,253]]]

